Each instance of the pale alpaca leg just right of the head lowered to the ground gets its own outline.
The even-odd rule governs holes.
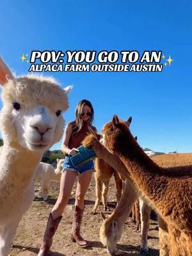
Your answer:
[[[148,236],[148,228],[150,221],[150,212],[151,208],[148,206],[147,202],[140,198],[140,212],[141,212],[141,253],[148,252],[147,245],[147,236]]]

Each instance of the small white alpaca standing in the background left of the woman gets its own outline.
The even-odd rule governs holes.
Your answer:
[[[38,164],[35,173],[35,180],[41,180],[41,195],[45,201],[47,200],[49,181],[60,179],[63,162],[64,159],[57,158],[58,164],[56,169],[54,169],[51,164],[43,162],[40,162],[40,164]]]

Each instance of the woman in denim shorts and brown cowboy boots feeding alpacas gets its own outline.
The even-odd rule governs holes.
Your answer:
[[[89,161],[88,163],[76,168],[70,161],[70,156],[74,156],[77,153],[77,147],[81,145],[81,142],[88,133],[91,131],[97,132],[97,129],[92,126],[93,115],[94,111],[91,102],[89,100],[81,100],[77,104],[76,120],[68,124],[65,129],[61,150],[66,157],[63,163],[63,173],[61,174],[60,194],[56,204],[52,208],[51,214],[49,215],[44,234],[44,241],[42,242],[38,256],[45,256],[49,253],[49,249],[52,244],[52,237],[58,228],[62,218],[61,215],[68,203],[77,175],[78,180],[74,221],[70,236],[72,241],[76,241],[79,246],[88,246],[87,242],[80,235],[80,226],[84,211],[84,195],[86,194],[90,180],[92,179],[94,166],[93,161]]]

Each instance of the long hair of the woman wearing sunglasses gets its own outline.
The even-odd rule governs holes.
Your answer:
[[[81,128],[83,127],[83,120],[81,120],[81,114],[83,112],[83,107],[88,106],[91,109],[92,115],[90,116],[90,120],[88,121],[88,129],[90,131],[93,131],[92,129],[92,123],[93,123],[93,118],[94,118],[94,110],[92,103],[89,100],[81,100],[77,104],[76,108],[76,126],[74,127],[74,133],[79,132]]]

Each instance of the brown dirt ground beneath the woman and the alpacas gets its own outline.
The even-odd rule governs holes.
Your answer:
[[[37,255],[40,247],[42,237],[44,235],[45,223],[47,223],[47,216],[51,212],[52,205],[56,202],[56,198],[59,190],[59,181],[52,181],[49,186],[49,197],[47,202],[44,202],[40,198],[40,183],[37,182],[36,186],[36,198],[31,205],[31,208],[23,216],[17,229],[17,235],[13,241],[13,248],[11,255],[15,256],[34,256]],[[70,241],[70,229],[72,227],[73,218],[73,205],[75,198],[76,184],[72,190],[72,195],[68,202],[65,211],[63,212],[63,219],[58,227],[58,230],[54,236],[52,243],[51,256],[72,256],[72,255],[102,255],[109,256],[106,248],[102,246],[99,239],[99,228],[102,223],[100,211],[103,211],[103,207],[100,204],[98,208],[98,214],[92,215],[92,207],[95,203],[95,180],[92,177],[92,182],[86,194],[85,210],[83,216],[83,224],[81,227],[83,236],[90,241],[90,247],[87,249],[77,247],[76,243]],[[104,212],[111,214],[115,209],[115,182],[111,179],[110,188],[108,193],[108,205],[109,211]],[[118,242],[117,248],[122,251],[122,255],[140,255],[140,233],[135,232],[134,223],[131,218],[128,218],[124,224],[124,232],[122,238]],[[150,231],[148,234],[148,245],[150,247],[148,255],[159,255],[158,250],[158,231],[157,221],[150,221]]]

